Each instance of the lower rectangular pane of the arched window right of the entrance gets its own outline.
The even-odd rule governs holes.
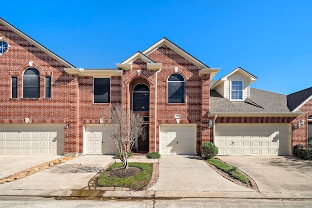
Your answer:
[[[184,82],[168,82],[168,103],[184,103]]]

